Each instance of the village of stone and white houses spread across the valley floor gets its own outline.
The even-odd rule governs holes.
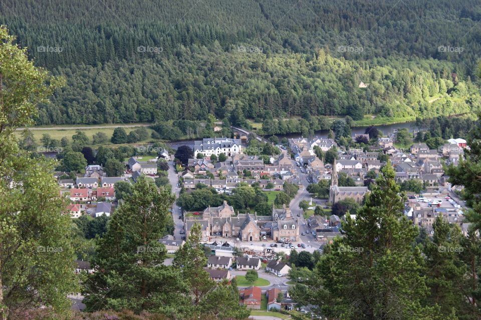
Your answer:
[[[354,136],[353,139],[359,139]],[[458,224],[466,234],[464,204],[447,181],[443,164],[456,165],[463,154],[466,141],[449,139],[438,150],[429,149],[425,143],[413,143],[409,150],[394,146],[392,138],[379,137],[376,145],[364,150],[346,150],[331,138],[291,138],[287,143],[275,145],[278,155],[266,158],[249,155],[249,145],[241,139],[204,138],[194,142],[192,157],[186,165],[174,161],[173,154],[161,149],[153,159],[130,157],[125,162],[121,176],[106,176],[101,165],[85,168],[85,174],[74,179],[60,179],[65,172],[56,172],[62,196],[71,201],[72,218],[89,215],[98,218],[109,216],[122,200],[116,198],[116,183],[135,183],[144,174],[158,176],[159,159],[168,163],[168,179],[178,198],[181,193],[211,188],[218,194],[230,195],[240,185],[254,185],[264,192],[283,192],[286,182],[299,190],[289,203],[272,203],[268,215],[258,212],[236,212],[224,200],[219,206],[208,205],[203,210],[191,210],[174,203],[171,208],[175,229],[173,234],[159,239],[168,253],[175,253],[188,239],[194,224],[201,226],[201,241],[208,250],[205,270],[216,281],[242,279],[239,283],[240,303],[249,308],[298,310],[309,312],[309,306],[296,306],[289,295],[290,255],[292,250],[309,256],[322,254],[324,246],[335,236],[341,236],[342,220],[347,214],[331,214],[336,203],[346,199],[361,204],[369,192],[368,177],[375,177],[388,159],[395,169],[399,183],[418,181],[422,193],[408,191],[405,215],[416,225],[432,234],[432,224],[437,216],[449,223]],[[332,163],[318,156],[319,150],[336,150]],[[354,183],[342,185],[341,179]],[[320,181],[326,181],[320,182]],[[310,185],[328,184],[325,197],[310,193]],[[273,193],[275,194],[275,193]],[[302,202],[307,202],[303,207]],[[171,260],[171,259],[170,259]],[[77,272],[92,273],[88,261],[76,261]],[[165,263],[171,263],[169,259]],[[246,280],[248,271],[256,272],[256,280]],[[257,273],[259,272],[259,273]],[[249,276],[248,276],[249,277]],[[255,285],[257,284],[257,285]],[[267,302],[266,302],[267,301]]]

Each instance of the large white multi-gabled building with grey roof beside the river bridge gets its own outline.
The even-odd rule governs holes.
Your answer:
[[[212,154],[218,156],[220,153],[231,156],[242,153],[242,144],[240,139],[203,138],[194,141],[194,157],[197,157],[198,153],[202,153],[204,156],[211,156]]]

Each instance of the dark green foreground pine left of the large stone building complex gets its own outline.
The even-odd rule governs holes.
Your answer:
[[[150,179],[139,177],[98,241],[92,261],[98,271],[85,284],[88,310],[183,313],[185,282],[178,269],[162,264],[166,250],[158,242],[172,219],[168,209],[173,200]]]

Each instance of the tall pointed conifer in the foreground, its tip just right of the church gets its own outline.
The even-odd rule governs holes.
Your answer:
[[[296,284],[300,303],[337,319],[434,319],[436,308],[422,305],[428,288],[417,228],[403,215],[404,195],[390,163],[381,169],[355,220],[343,223],[320,258],[314,276]]]

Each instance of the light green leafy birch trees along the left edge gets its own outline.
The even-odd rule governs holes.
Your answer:
[[[45,306],[58,316],[75,292],[70,217],[52,179],[54,163],[30,158],[14,136],[59,84],[29,61],[0,27],[0,316],[25,318]]]

